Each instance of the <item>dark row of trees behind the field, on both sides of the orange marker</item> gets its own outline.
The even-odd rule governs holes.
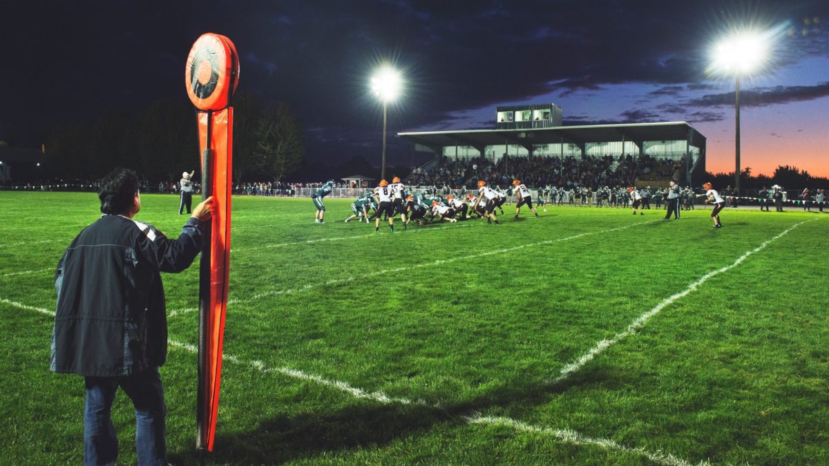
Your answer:
[[[233,101],[233,179],[279,181],[302,166],[303,129],[287,104],[261,104],[252,95]],[[95,180],[113,167],[145,179],[177,181],[201,171],[196,110],[186,99],[156,100],[130,113],[104,110],[90,122],[57,125],[46,138],[51,171],[64,179]]]

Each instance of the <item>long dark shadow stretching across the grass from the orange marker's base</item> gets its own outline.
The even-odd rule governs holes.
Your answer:
[[[618,383],[608,381],[621,377]],[[314,459],[320,454],[390,444],[436,425],[466,425],[468,416],[502,407],[522,410],[543,405],[553,396],[576,386],[603,381],[623,386],[622,373],[604,374],[602,370],[575,374],[555,386],[533,384],[502,386],[477,399],[456,405],[354,405],[328,414],[308,413],[264,420],[255,430],[216,435],[216,451],[206,456],[206,464],[278,464],[295,459]],[[518,402],[518,405],[516,405]],[[195,451],[171,454],[176,464],[199,464]],[[328,459],[332,459],[328,457]]]

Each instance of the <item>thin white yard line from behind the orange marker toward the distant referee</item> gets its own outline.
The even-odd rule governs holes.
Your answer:
[[[367,278],[375,277],[377,275],[395,274],[395,273],[398,273],[398,272],[405,272],[407,270],[419,269],[421,267],[429,267],[431,265],[451,264],[453,262],[457,262],[458,260],[473,260],[473,259],[478,259],[479,257],[484,257],[484,256],[487,256],[487,255],[504,254],[504,253],[507,253],[507,252],[511,252],[513,250],[531,248],[531,247],[536,247],[536,246],[540,246],[540,245],[550,245],[550,244],[553,244],[553,243],[558,243],[560,241],[575,240],[576,238],[580,238],[582,236],[599,235],[600,233],[609,233],[611,231],[625,230],[625,229],[630,228],[631,226],[645,225],[647,223],[653,223],[655,221],[657,221],[657,220],[654,220],[654,221],[640,221],[640,222],[637,222],[637,223],[633,223],[631,225],[619,226],[617,228],[611,228],[611,229],[608,229],[608,230],[586,231],[584,233],[579,233],[578,235],[567,236],[565,238],[558,238],[558,239],[555,239],[555,240],[544,240],[544,241],[540,241],[540,242],[537,242],[537,243],[531,243],[529,245],[518,245],[518,246],[513,246],[511,248],[505,248],[505,249],[501,249],[501,250],[490,250],[490,251],[487,251],[487,252],[482,252],[482,253],[473,254],[473,255],[464,255],[464,256],[455,257],[455,258],[452,258],[452,259],[434,260],[432,262],[424,262],[423,264],[406,265],[404,267],[398,267],[396,269],[383,269],[383,270],[378,270],[376,272],[371,272],[370,274],[351,275],[350,277],[347,277],[345,279],[332,279],[332,280],[328,280],[328,281],[322,282],[322,283],[307,284],[303,287],[299,287],[299,288],[295,288],[295,289],[271,290],[271,291],[266,291],[264,293],[254,294],[253,296],[251,296],[250,298],[247,298],[247,299],[230,299],[230,300],[228,300],[227,304],[230,305],[230,304],[238,304],[238,303],[250,303],[251,301],[256,301],[256,300],[263,299],[263,298],[268,298],[269,296],[276,296],[276,295],[279,295],[279,294],[302,293],[303,291],[308,291],[309,289],[314,289],[314,288],[317,288],[317,287],[320,287],[320,286],[331,286],[331,285],[335,285],[335,284],[344,284],[344,283],[352,282],[354,280],[360,280],[360,279],[367,279]],[[198,308],[176,309],[176,310],[170,311],[170,313],[167,314],[167,317],[174,317],[174,316],[182,315],[182,314],[186,314],[186,313],[194,313],[198,310],[199,310]]]

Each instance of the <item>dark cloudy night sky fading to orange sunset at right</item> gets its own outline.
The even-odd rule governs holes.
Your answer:
[[[498,104],[552,102],[565,124],[687,121],[727,172],[734,79],[706,69],[735,26],[777,32],[766,69],[741,78],[742,166],[829,176],[827,0],[9,2],[0,140],[39,147],[55,124],[187,101],[187,52],[217,32],[240,52],[240,92],[290,104],[313,161],[379,163],[368,81],[390,61],[406,82],[390,133],[488,129]],[[391,136],[389,158],[409,164],[410,143]]]

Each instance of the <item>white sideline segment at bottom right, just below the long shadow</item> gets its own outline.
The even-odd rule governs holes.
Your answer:
[[[662,453],[661,451],[649,452],[643,448],[626,447],[624,445],[616,443],[616,441],[611,439],[594,439],[592,437],[587,437],[582,434],[579,434],[578,432],[570,429],[550,429],[545,427],[536,427],[535,425],[525,424],[521,421],[512,420],[507,417],[475,415],[473,417],[468,417],[467,420],[469,424],[503,425],[506,427],[511,427],[515,430],[550,435],[551,437],[555,437],[555,439],[558,439],[560,442],[565,444],[593,445],[599,447],[600,449],[639,454],[657,464],[665,464],[667,466],[691,466],[691,463],[688,463],[684,459],[676,458],[676,456],[672,454]],[[700,464],[709,463],[707,461],[704,461]]]

